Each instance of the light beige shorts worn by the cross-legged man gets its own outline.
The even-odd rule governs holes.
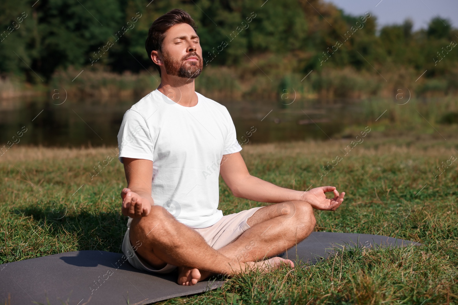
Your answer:
[[[262,207],[256,207],[239,213],[224,215],[219,221],[207,228],[193,229],[196,230],[202,237],[207,241],[207,244],[213,249],[218,250],[239,237],[243,232],[248,230],[250,226],[246,223],[248,218],[251,217],[258,209]],[[167,264],[164,268],[156,269],[150,266],[144,259],[135,255],[136,248],[140,245],[132,245],[130,239],[130,226],[132,218],[129,218],[127,221],[127,231],[124,235],[124,240],[122,241],[122,252],[127,257],[127,261],[135,268],[153,272],[153,273],[170,273],[176,266]]]

